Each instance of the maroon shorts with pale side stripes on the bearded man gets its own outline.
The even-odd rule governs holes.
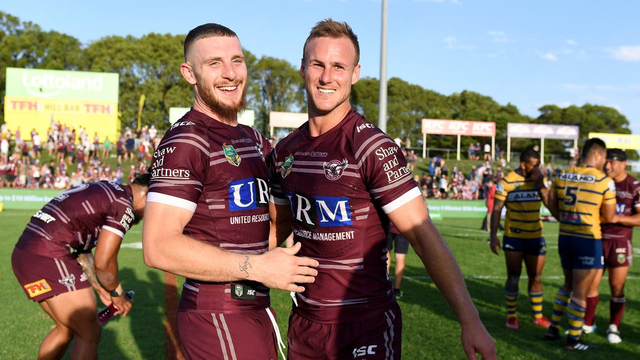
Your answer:
[[[277,360],[275,311],[178,313],[178,336],[186,359]]]

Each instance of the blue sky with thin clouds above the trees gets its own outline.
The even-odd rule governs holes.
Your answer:
[[[218,22],[252,53],[295,65],[309,29],[333,17],[360,39],[362,76],[380,76],[380,0],[6,1],[0,10],[85,44]],[[388,10],[389,78],[473,90],[534,117],[543,104],[613,106],[640,135],[640,1],[390,0]]]

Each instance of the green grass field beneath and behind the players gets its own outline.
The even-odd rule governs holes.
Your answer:
[[[0,213],[2,243],[0,245],[0,327],[1,359],[33,359],[45,334],[53,322],[40,307],[27,300],[24,291],[11,270],[10,256],[13,245],[33,211],[4,211]],[[480,220],[445,219],[436,222],[440,231],[456,254],[468,289],[481,318],[497,343],[500,359],[638,359],[640,358],[640,270],[632,267],[625,290],[627,311],[620,326],[623,342],[609,345],[605,328],[609,321],[609,287],[600,285],[601,301],[596,323],[597,334],[589,334],[589,343],[600,349],[589,354],[568,352],[561,343],[543,340],[544,330],[527,322],[531,315],[526,280],[520,281],[518,316],[520,329],[504,327],[505,311],[503,291],[506,275],[504,258],[493,255],[486,243],[486,233],[478,230]],[[543,273],[545,286],[544,313],[550,316],[553,295],[562,283],[562,270],[557,256],[557,224],[545,223],[545,238],[549,249]],[[635,243],[639,242],[636,231]],[[147,268],[140,250],[141,226],[134,227],[125,236],[120,250],[120,279],[126,290],[134,289],[134,307],[126,318],[107,323],[100,340],[102,359],[164,359],[165,328],[164,273]],[[638,245],[636,245],[638,246]],[[638,249],[635,250],[639,254]],[[181,281],[178,281],[179,288]],[[407,257],[404,297],[399,300],[403,310],[404,359],[465,359],[460,346],[460,325],[424,267],[413,251]],[[287,318],[291,298],[283,291],[272,291],[272,306],[278,313],[283,337],[287,331]],[[566,318],[564,319],[566,325]]]

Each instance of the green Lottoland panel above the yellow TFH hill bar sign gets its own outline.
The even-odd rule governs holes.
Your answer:
[[[6,96],[117,102],[118,74],[8,67]]]

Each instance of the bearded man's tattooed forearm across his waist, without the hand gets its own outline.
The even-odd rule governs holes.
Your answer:
[[[149,239],[143,236],[145,263],[172,274],[198,281],[255,280],[257,255],[234,254],[184,234]]]

